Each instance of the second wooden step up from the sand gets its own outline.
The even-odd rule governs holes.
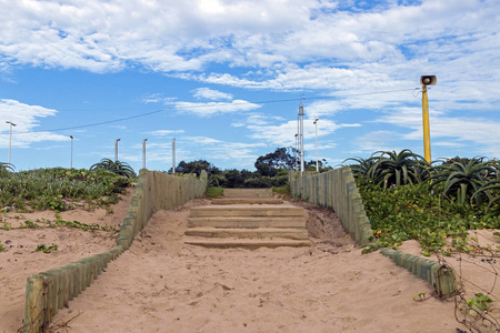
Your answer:
[[[256,228],[256,229],[219,229],[219,228],[190,228],[186,235],[201,238],[237,238],[237,239],[264,239],[281,238],[290,240],[309,240],[304,229],[283,228]]]

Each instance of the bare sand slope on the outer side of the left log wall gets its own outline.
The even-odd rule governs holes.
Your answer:
[[[114,213],[107,214],[104,209],[93,211],[71,210],[61,213],[64,221],[78,221],[86,224],[99,224],[119,228],[127,215],[133,189],[129,189],[122,200],[113,205]],[[17,213],[1,215],[0,242],[4,251],[0,253],[0,332],[17,332],[24,317],[26,281],[31,274],[63,266],[80,259],[104,252],[117,244],[112,232],[91,232],[66,226],[19,229],[26,221],[54,220],[52,211]],[[7,231],[4,223],[11,225]],[[58,244],[58,251],[36,252],[37,245]]]

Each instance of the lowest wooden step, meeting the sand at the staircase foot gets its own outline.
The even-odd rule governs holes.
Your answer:
[[[197,239],[184,236],[184,243],[190,245],[206,246],[206,248],[279,248],[279,246],[311,246],[309,240],[282,240],[282,239]]]

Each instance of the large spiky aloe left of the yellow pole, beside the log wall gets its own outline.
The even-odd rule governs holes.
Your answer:
[[[380,153],[380,155],[374,155]],[[399,186],[403,184],[416,184],[429,178],[431,167],[421,155],[404,149],[396,151],[378,151],[372,158],[372,165],[367,176],[377,185]]]

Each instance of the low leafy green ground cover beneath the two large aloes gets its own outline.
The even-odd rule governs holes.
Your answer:
[[[463,244],[468,229],[500,228],[500,216],[484,213],[482,208],[440,202],[440,188],[442,184],[429,189],[427,183],[387,190],[360,185],[377,244],[398,248],[401,242],[413,239],[420,242],[422,253],[429,254],[441,250],[448,236],[456,239],[453,245]]]

